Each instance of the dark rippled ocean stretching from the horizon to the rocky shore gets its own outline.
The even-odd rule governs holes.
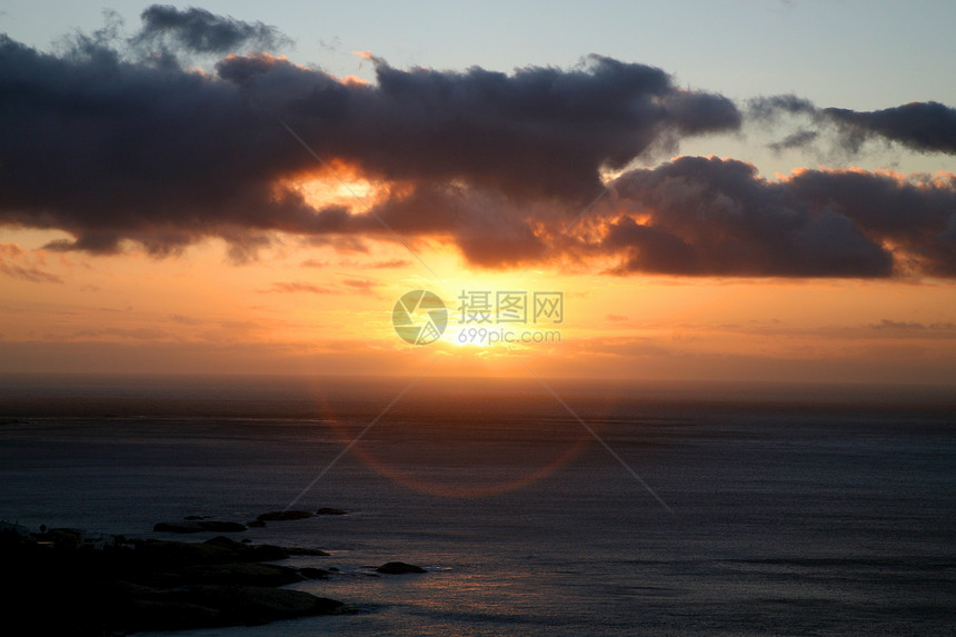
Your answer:
[[[407,382],[4,376],[0,519],[348,511],[235,537],[359,613],[175,635],[956,635],[952,388]]]

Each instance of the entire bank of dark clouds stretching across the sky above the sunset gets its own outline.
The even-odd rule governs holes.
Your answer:
[[[396,69],[342,80],[266,52],[260,22],[153,6],[128,38],[101,32],[59,53],[0,37],[0,225],[63,230],[48,246],[94,253],[133,242],[156,256],[209,237],[236,260],[275,232],[315,243],[456,246],[487,268],[611,259],[613,273],[956,276],[953,176],[801,170],[780,181],[745,162],[636,162],[680,140],[804,115],[858,150],[882,138],[956,152],[956,111],[935,102],[856,112],[794,96],[746,109],[665,71],[591,56],[512,73]],[[216,56],[208,71],[190,56]],[[375,186],[370,210],[310,203],[297,181],[347,167]],[[824,130],[827,129],[827,130]],[[630,170],[628,170],[630,168]],[[625,170],[586,222],[565,228]],[[384,222],[384,223],[382,223]],[[548,250],[552,241],[554,249]]]

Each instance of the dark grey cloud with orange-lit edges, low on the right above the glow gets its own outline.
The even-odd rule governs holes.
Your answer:
[[[956,177],[803,170],[767,181],[749,163],[683,157],[614,189],[604,236],[575,249],[623,255],[618,273],[956,276]]]

